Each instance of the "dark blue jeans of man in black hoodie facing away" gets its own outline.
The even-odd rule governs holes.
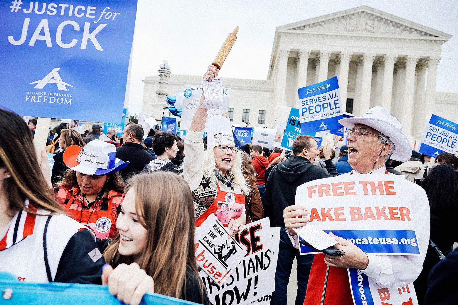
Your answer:
[[[287,286],[294,257],[297,259],[297,294],[295,305],[302,305],[305,300],[305,290],[309,280],[313,255],[300,255],[299,249],[294,248],[289,240],[284,226],[279,226],[280,246],[278,248],[277,271],[275,272],[275,291],[272,293],[270,305],[287,304]]]

